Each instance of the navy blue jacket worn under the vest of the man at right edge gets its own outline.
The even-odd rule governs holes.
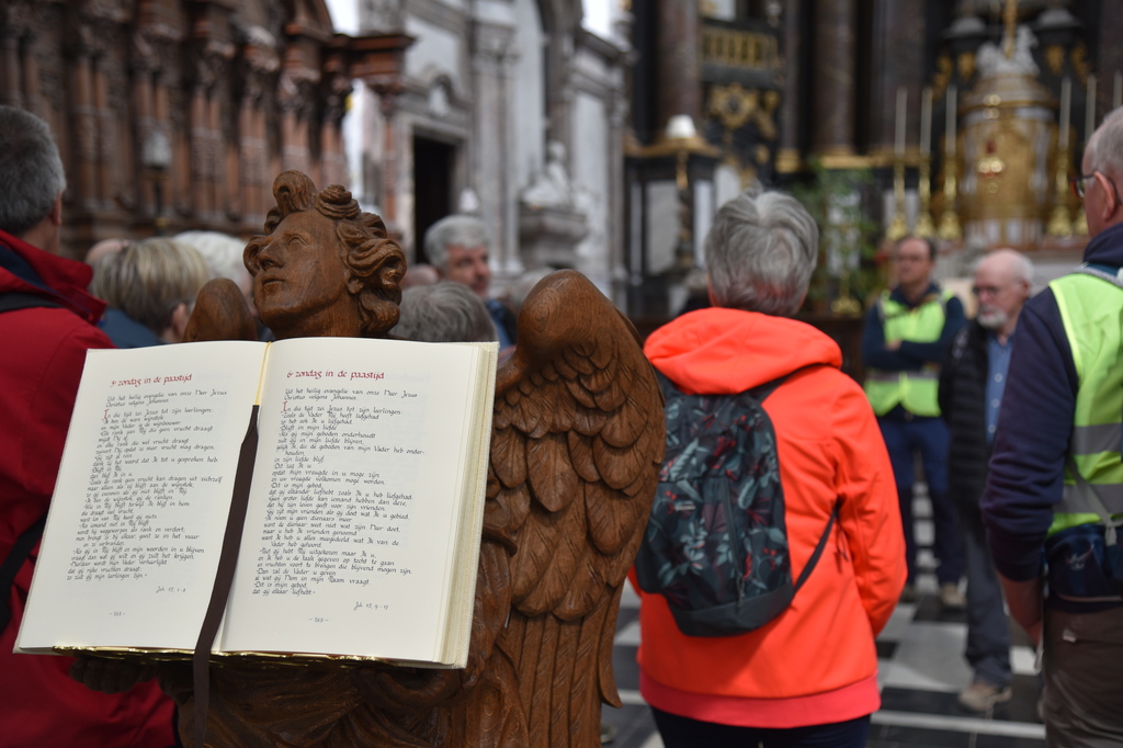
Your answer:
[[[1084,261],[1123,266],[1123,225],[1095,236]],[[1123,293],[1105,283],[1107,292]],[[1065,486],[1065,455],[1078,387],[1072,349],[1052,291],[1026,302],[1002,399],[990,473],[983,494],[994,565],[1016,582],[1041,574],[1053,504]]]

